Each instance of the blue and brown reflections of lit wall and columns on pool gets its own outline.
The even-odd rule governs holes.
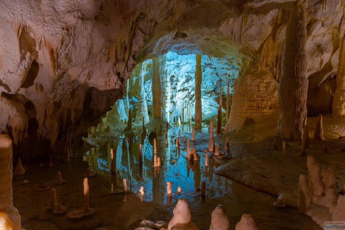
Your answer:
[[[99,177],[102,177],[101,183],[104,183],[109,191],[122,189],[122,179],[127,178],[128,189],[132,192],[136,193],[140,186],[144,186],[146,195],[141,196],[141,200],[159,205],[173,205],[173,202],[180,197],[205,202],[205,199],[221,197],[231,192],[231,188],[228,188],[230,181],[220,176],[214,178],[216,165],[212,158],[208,158],[208,166],[204,166],[205,157],[200,156],[202,155],[200,151],[197,150],[195,158],[191,155],[189,159],[185,147],[175,146],[179,129],[171,128],[167,137],[164,133],[157,137],[157,158],[161,160],[160,167],[153,167],[153,140],[142,138],[140,132],[136,132],[134,137],[123,135],[118,139],[103,142],[101,146],[89,149],[84,155],[84,160],[89,163],[91,170],[98,172]],[[181,135],[189,137],[188,132],[191,132],[189,127],[181,127]],[[207,129],[202,132],[208,135]],[[142,164],[139,158],[139,144],[142,148]],[[194,145],[195,143],[191,142],[191,147]],[[113,160],[111,149],[113,149]],[[113,174],[111,174],[112,165],[115,167]],[[166,181],[172,182],[172,191],[176,191],[180,186],[185,192],[195,191],[196,188],[200,188],[202,181],[206,181],[208,194],[206,197],[188,197],[185,194],[165,196]]]

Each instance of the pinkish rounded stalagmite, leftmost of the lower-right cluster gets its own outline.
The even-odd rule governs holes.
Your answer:
[[[307,175],[299,175],[299,183],[298,183],[298,211],[301,213],[305,213],[310,207],[310,191],[308,185],[308,177]]]

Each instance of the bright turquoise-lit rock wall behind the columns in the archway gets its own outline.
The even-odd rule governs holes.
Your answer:
[[[176,123],[178,117],[181,122],[189,122],[189,109],[192,120],[195,112],[195,54],[179,55],[174,52],[165,54],[165,72],[170,85],[169,122]],[[152,114],[152,61],[146,63],[144,90],[148,111]],[[236,63],[203,55],[201,59],[203,81],[201,83],[201,103],[203,122],[208,123],[211,118],[217,117],[219,101],[219,86],[223,88],[223,113],[225,118],[227,83],[230,84],[230,94],[233,92],[234,81],[238,76],[239,67]],[[141,63],[132,72],[129,81],[128,97],[135,118],[138,103],[138,84],[141,72]],[[230,105],[231,106],[231,105]],[[149,115],[151,118],[152,115]],[[123,119],[123,118],[120,118]]]

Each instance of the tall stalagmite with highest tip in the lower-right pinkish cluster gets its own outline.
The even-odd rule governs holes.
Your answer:
[[[308,156],[307,158],[307,167],[309,174],[309,189],[310,194],[313,197],[321,196],[325,190],[324,183],[321,178],[321,165],[315,163],[315,158],[313,156]]]

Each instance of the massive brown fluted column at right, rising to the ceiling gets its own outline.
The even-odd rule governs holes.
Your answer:
[[[302,6],[293,4],[286,26],[282,78],[279,84],[280,114],[278,135],[283,140],[302,139],[307,116],[306,19]]]

